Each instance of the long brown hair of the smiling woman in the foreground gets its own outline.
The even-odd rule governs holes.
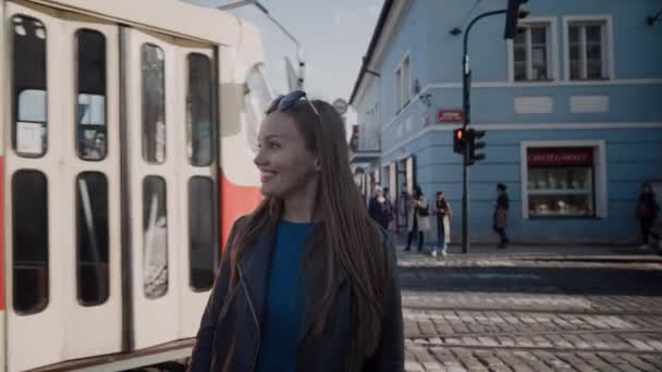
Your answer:
[[[314,100],[319,119],[307,102],[299,101],[284,111],[294,119],[306,148],[320,160],[320,178],[316,207],[320,210],[326,275],[317,277],[322,288],[312,309],[311,335],[319,337],[343,275],[353,284],[358,327],[352,335],[367,355],[372,355],[381,334],[383,296],[387,278],[385,251],[381,234],[371,224],[350,169],[345,128],[331,104]],[[273,226],[283,212],[283,202],[266,197],[237,231],[230,257],[231,287],[236,285],[238,262],[250,241],[268,226]],[[305,261],[304,261],[305,262]],[[305,264],[305,263],[304,263]],[[234,284],[233,284],[234,283]],[[348,314],[347,314],[348,315]]]

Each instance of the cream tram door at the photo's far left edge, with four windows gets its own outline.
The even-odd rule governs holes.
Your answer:
[[[4,7],[7,365],[21,371],[121,351],[119,42],[112,24]]]

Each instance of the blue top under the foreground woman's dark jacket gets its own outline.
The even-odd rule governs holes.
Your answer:
[[[305,307],[299,258],[311,230],[312,223],[278,224],[256,372],[295,371]]]

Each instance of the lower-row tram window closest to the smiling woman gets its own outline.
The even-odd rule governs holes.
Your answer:
[[[207,290],[213,284],[217,253],[217,193],[209,177],[188,181],[188,284],[194,290]]]

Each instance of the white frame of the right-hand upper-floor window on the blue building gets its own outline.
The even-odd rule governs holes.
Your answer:
[[[602,33],[602,78],[579,78],[571,79],[571,48],[569,48],[569,26],[571,24],[584,23],[594,24],[604,23],[604,29]],[[586,47],[581,48],[581,53],[586,54]],[[586,76],[586,58],[581,69],[583,75]],[[613,18],[611,15],[567,15],[563,17],[563,76],[567,82],[584,82],[584,80],[603,80],[614,79],[615,65],[614,65],[614,32],[613,32]]]

